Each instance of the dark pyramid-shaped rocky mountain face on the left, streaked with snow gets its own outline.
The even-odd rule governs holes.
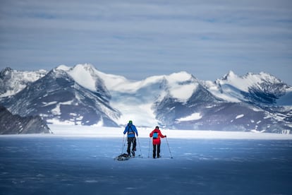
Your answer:
[[[98,91],[83,88],[62,69],[53,69],[14,95],[6,107],[21,116],[39,114],[49,123],[117,126],[113,119],[120,113],[109,106],[104,88]]]

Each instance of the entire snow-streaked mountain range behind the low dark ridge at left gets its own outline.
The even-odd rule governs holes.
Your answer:
[[[200,81],[185,71],[130,81],[91,64],[0,72],[0,103],[48,124],[292,133],[292,87],[269,73]]]

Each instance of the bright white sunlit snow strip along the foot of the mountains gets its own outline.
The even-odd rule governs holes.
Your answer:
[[[77,126],[77,125],[48,125],[53,134],[44,134],[44,136],[84,136],[84,137],[107,137],[118,138],[123,136],[124,127],[95,127],[95,126]],[[154,129],[146,127],[137,127],[140,138],[149,138],[150,132]],[[162,134],[168,138],[211,138],[211,139],[292,139],[291,134],[255,134],[254,132],[241,131],[194,131],[194,130],[173,130],[161,129]]]

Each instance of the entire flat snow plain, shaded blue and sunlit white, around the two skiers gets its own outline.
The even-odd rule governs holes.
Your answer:
[[[49,127],[0,136],[2,194],[291,194],[291,135],[162,129],[153,159],[138,128],[140,156],[118,161],[123,128]]]

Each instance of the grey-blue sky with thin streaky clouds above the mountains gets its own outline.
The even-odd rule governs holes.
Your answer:
[[[137,80],[264,71],[292,85],[292,1],[0,1],[1,69],[85,63]]]

